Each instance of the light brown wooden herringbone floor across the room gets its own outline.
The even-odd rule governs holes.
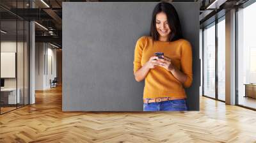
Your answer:
[[[199,112],[62,112],[58,87],[1,115],[0,142],[256,142],[256,112],[204,97]]]

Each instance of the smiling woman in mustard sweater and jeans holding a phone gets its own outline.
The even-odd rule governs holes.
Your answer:
[[[154,56],[163,52],[164,56]],[[179,16],[170,3],[154,8],[150,36],[141,37],[134,50],[134,77],[145,79],[143,110],[188,110],[184,87],[192,83],[192,51],[182,39]]]

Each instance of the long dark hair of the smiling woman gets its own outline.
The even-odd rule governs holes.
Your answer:
[[[168,25],[171,29],[171,33],[168,41],[175,41],[175,40],[179,40],[180,38],[183,38],[179,15],[177,11],[175,10],[172,4],[162,2],[156,5],[152,13],[150,36],[152,36],[153,40],[154,41],[159,40],[159,33],[156,30],[156,15],[161,12],[166,14]]]

